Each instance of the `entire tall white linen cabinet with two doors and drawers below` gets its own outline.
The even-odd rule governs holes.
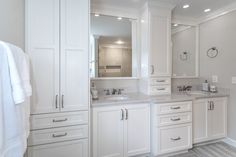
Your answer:
[[[87,157],[89,1],[26,0],[32,65],[28,157]]]

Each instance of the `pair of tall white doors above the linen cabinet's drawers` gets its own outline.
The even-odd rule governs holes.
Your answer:
[[[87,0],[26,1],[32,114],[88,109],[88,3]]]

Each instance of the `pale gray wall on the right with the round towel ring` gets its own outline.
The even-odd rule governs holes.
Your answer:
[[[206,51],[216,46],[219,55],[210,59]],[[228,136],[236,140],[236,11],[200,25],[200,76],[211,80],[218,75],[219,87],[230,89],[228,105]]]

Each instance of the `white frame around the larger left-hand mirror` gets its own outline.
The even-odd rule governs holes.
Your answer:
[[[136,20],[136,24],[135,26],[132,25],[132,31],[133,31],[133,27],[135,27],[135,38],[132,39],[132,44],[134,45],[135,47],[135,51],[136,51],[136,63],[137,63],[137,67],[136,67],[136,73],[137,73],[137,76],[132,76],[132,77],[90,77],[90,80],[130,80],[130,79],[133,79],[133,80],[137,80],[137,79],[140,79],[140,33],[139,33],[139,28],[140,28],[140,20],[138,18],[138,16],[135,16],[135,15],[132,15],[132,14],[124,14],[124,12],[122,13],[121,12],[112,12],[110,11],[109,9],[106,10],[105,8],[103,9],[100,9],[100,8],[91,8],[90,10],[90,15],[92,14],[100,14],[102,16],[113,16],[113,17],[123,17],[123,18],[128,18],[128,19],[133,19],[133,20]],[[90,23],[91,24],[91,23]],[[91,27],[91,26],[90,26]],[[133,66],[132,66],[133,68]]]

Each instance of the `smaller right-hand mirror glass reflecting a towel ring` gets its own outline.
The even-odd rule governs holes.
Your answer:
[[[172,24],[173,78],[199,76],[198,26]]]

